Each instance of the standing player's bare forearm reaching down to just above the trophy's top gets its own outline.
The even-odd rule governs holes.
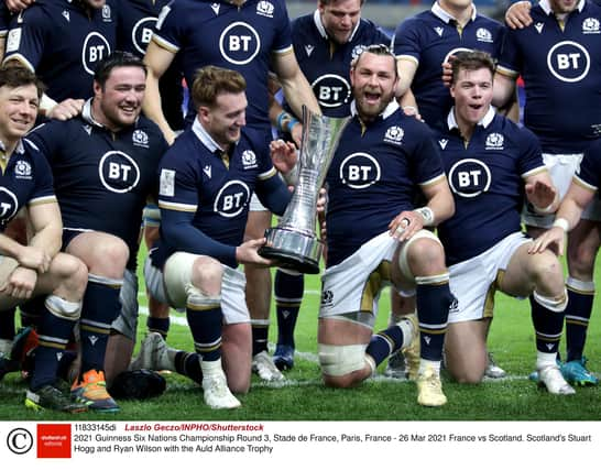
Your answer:
[[[303,105],[309,111],[320,114],[319,103],[313,94],[307,78],[300,72],[294,52],[273,54],[273,67],[277,75],[286,102],[296,116],[303,116]]]

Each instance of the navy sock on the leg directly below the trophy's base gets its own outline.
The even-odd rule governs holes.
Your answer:
[[[288,274],[281,270],[275,272],[274,296],[277,316],[277,345],[294,348],[294,328],[303,300],[305,276]]]

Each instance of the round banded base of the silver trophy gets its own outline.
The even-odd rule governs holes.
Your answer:
[[[282,228],[265,230],[265,238],[267,241],[259,249],[261,256],[277,261],[277,266],[286,270],[319,273],[324,243],[317,238]]]

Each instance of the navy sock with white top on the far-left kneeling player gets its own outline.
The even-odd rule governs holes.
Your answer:
[[[51,296],[48,296],[50,298]],[[80,305],[75,303],[66,303],[75,310],[79,310]],[[46,300],[44,304],[44,313],[42,321],[37,329],[40,343],[35,349],[35,359],[33,374],[30,381],[30,390],[36,391],[44,385],[54,384],[57,376],[58,361],[67,347],[73,328],[79,317],[70,318],[63,311],[56,308],[56,304]]]

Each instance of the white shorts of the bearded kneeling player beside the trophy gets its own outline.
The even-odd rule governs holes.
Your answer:
[[[403,243],[398,254],[401,272],[407,280],[406,251],[419,238],[438,239],[428,230],[420,230]],[[328,267],[321,276],[319,318],[337,317],[373,328],[380,293],[391,281],[391,261],[398,242],[389,232],[364,243],[340,264]]]

